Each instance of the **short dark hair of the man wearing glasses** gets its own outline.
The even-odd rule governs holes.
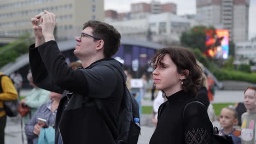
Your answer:
[[[91,27],[93,29],[92,34],[104,41],[104,57],[112,57],[118,51],[121,35],[117,29],[108,23],[95,20],[85,22],[83,29],[86,27]]]

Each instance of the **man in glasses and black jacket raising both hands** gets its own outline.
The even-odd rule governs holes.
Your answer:
[[[55,143],[114,143],[124,91],[122,77],[126,76],[114,70],[122,71],[122,64],[110,57],[119,49],[120,33],[104,22],[84,23],[74,50],[83,68],[73,70],[54,38],[55,15],[45,10],[31,22],[36,37],[36,44],[29,49],[34,83],[49,91],[64,92],[57,109]],[[101,100],[101,110],[95,99]],[[104,121],[102,111],[111,121]]]

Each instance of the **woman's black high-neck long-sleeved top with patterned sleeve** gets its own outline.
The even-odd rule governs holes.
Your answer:
[[[210,143],[213,128],[205,107],[189,104],[183,118],[184,106],[194,101],[191,93],[182,90],[167,99],[159,107],[158,124],[149,143]]]

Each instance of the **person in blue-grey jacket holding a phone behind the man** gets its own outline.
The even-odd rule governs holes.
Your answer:
[[[51,101],[43,104],[36,111],[30,122],[25,126],[29,144],[36,144],[42,128],[54,127],[57,107],[59,106],[61,94],[51,92]],[[53,135],[54,136],[54,135]]]

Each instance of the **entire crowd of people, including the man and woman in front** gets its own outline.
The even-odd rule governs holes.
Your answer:
[[[125,86],[131,90],[131,75],[111,58],[120,46],[117,29],[100,21],[85,22],[80,36],[75,38],[74,55],[80,63],[68,65],[55,41],[55,15],[45,10],[44,15],[36,15],[31,22],[35,44],[29,47],[31,73],[27,80],[33,89],[20,100],[20,105],[30,109],[22,118],[27,142],[122,143],[117,141],[123,134],[118,119]],[[203,74],[194,54],[183,48],[158,50],[150,65],[154,68],[152,80],[143,74],[140,89],[144,98],[147,83],[152,83],[152,100],[155,89],[159,91],[152,117],[155,131],[149,143],[212,143],[211,75]],[[14,81],[22,79],[17,76]],[[1,77],[0,144],[4,143],[7,121],[4,101],[18,99],[20,88],[21,84],[14,86],[8,76]],[[100,106],[97,100],[101,101]],[[241,116],[241,128],[235,126],[236,110],[224,107],[219,116],[219,135],[230,135],[234,143],[256,143],[256,87],[245,89],[243,103],[246,111]],[[137,118],[135,124],[139,125]]]

